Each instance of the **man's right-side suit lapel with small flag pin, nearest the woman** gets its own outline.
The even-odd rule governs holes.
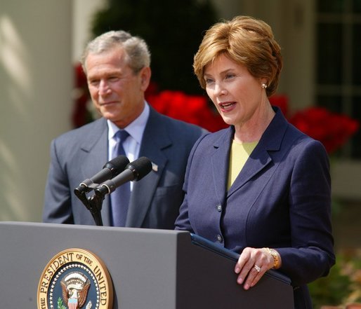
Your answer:
[[[157,167],[143,179],[133,183],[126,226],[140,227],[142,225],[168,161],[162,150],[171,146],[173,142],[166,134],[166,126],[159,118],[160,115],[150,107],[150,116],[145,126],[139,156],[149,158]]]

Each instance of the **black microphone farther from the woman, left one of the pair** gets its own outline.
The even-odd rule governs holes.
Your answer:
[[[100,172],[96,173],[93,177],[81,181],[79,186],[74,189],[74,193],[77,196],[81,193],[88,193],[92,188],[96,188],[98,184],[101,184],[105,180],[111,179],[124,171],[127,164],[129,164],[129,159],[126,158],[126,156],[117,156],[105,163],[103,170],[100,170]]]

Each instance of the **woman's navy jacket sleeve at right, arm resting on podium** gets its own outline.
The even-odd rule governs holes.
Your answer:
[[[335,262],[331,226],[329,160],[320,142],[306,144],[291,175],[291,246],[277,248],[293,284],[307,284],[329,273]]]

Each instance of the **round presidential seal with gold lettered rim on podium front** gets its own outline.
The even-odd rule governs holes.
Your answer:
[[[111,309],[113,287],[98,256],[66,249],[48,262],[37,291],[38,309]]]

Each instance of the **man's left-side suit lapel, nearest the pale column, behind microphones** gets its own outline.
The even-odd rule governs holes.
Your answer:
[[[93,123],[92,134],[84,137],[84,142],[81,144],[81,151],[83,152],[82,160],[79,162],[81,170],[86,175],[85,177],[92,177],[99,172],[103,165],[107,162],[107,121],[105,118],[100,118]],[[89,193],[93,194],[93,192]],[[85,206],[84,206],[85,207]],[[109,196],[106,195],[101,210],[103,225],[110,226],[110,209]]]

